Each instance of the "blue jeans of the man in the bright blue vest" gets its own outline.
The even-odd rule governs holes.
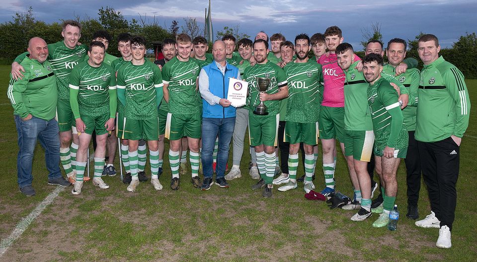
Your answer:
[[[225,167],[229,160],[230,140],[235,128],[235,117],[232,118],[203,118],[202,119],[202,170],[204,178],[212,178],[212,163],[214,161],[215,140],[219,135],[219,151],[217,152],[217,166],[215,168],[218,178],[225,176]]]

